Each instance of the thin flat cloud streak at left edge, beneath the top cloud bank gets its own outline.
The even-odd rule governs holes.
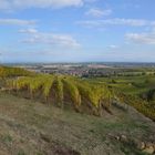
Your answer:
[[[32,25],[35,24],[33,20],[20,20],[20,19],[0,19],[0,24],[4,25]]]

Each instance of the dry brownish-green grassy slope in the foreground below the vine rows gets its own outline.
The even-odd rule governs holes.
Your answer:
[[[141,155],[111,135],[152,141],[155,124],[134,110],[113,113],[95,117],[1,93],[0,155]]]

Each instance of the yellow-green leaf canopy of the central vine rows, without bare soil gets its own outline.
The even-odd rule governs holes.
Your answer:
[[[71,103],[79,108],[81,105],[101,108],[102,104],[107,107],[111,105],[113,93],[106,85],[96,85],[82,79],[68,75],[44,75],[17,78],[9,80],[8,86],[13,90],[27,90],[33,97],[37,91],[40,91],[44,99],[52,97],[51,91],[54,91],[54,100],[63,106],[64,93],[68,92]]]

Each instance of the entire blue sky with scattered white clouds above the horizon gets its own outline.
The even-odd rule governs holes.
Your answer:
[[[155,0],[0,0],[0,62],[155,62]]]

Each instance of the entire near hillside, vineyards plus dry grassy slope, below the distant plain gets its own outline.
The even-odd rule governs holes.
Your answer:
[[[154,76],[85,79],[0,68],[0,154],[102,155],[110,146],[110,154],[137,155],[142,142],[146,149],[154,144],[154,122],[137,113],[155,121]]]

